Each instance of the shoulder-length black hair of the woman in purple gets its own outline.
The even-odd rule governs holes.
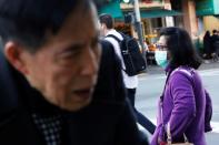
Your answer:
[[[170,52],[170,68],[176,69],[180,65],[188,65],[198,69],[201,64],[201,59],[196,51],[189,33],[176,27],[163,28],[160,31],[160,37],[167,38],[167,48]]]

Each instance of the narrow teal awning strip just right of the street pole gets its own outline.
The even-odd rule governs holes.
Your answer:
[[[181,12],[173,10],[166,10],[166,9],[141,10],[140,13],[141,13],[141,18],[161,18],[161,17],[182,15]]]

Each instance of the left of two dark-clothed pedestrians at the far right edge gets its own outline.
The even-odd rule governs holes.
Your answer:
[[[210,59],[211,46],[210,31],[206,31],[206,34],[203,35],[203,59]]]

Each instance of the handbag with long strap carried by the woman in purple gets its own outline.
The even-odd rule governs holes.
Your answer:
[[[162,91],[162,95],[160,96],[160,115],[161,115],[161,121],[162,121],[162,127],[165,127],[165,121],[163,121],[163,111],[162,111],[162,102],[163,102],[163,96],[165,96],[165,90],[166,90],[166,85],[167,85],[167,82],[169,80],[169,76],[172,74],[169,73],[168,76],[167,76],[167,80],[166,80],[166,83],[165,83],[165,89]],[[166,131],[166,130],[163,130]],[[189,143],[186,134],[183,133],[183,139],[185,142],[183,143],[172,143],[172,137],[171,137],[171,132],[170,132],[170,123],[167,124],[167,145],[193,145],[193,143]]]

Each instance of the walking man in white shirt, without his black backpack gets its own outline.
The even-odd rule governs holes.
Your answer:
[[[156,126],[152,124],[152,122],[150,122],[143,114],[141,114],[135,107],[136,90],[138,87],[138,75],[129,76],[127,74],[127,72],[125,71],[126,65],[125,65],[125,61],[121,54],[120,44],[115,38],[108,37],[108,35],[115,35],[119,40],[123,40],[123,38],[120,32],[115,30],[113,18],[110,14],[103,13],[99,17],[99,20],[100,20],[100,27],[101,27],[100,29],[101,34],[104,37],[104,40],[109,41],[113,45],[113,49],[117,52],[117,55],[119,56],[121,61],[121,64],[122,64],[121,72],[123,76],[125,86],[127,89],[127,95],[131,103],[131,106],[133,107],[138,123],[140,123],[146,130],[148,130],[152,134],[155,132]]]

